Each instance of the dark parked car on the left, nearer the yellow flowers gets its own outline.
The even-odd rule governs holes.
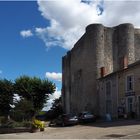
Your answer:
[[[60,115],[57,119],[52,120],[49,126],[68,126],[78,124],[78,117],[70,114]]]

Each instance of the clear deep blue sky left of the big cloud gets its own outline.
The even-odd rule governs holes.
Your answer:
[[[37,2],[0,2],[0,78],[14,80],[21,75],[45,78],[46,72],[61,73],[61,58],[66,49],[47,50],[37,36],[24,38],[22,30],[49,26]],[[54,81],[61,89],[61,82]]]

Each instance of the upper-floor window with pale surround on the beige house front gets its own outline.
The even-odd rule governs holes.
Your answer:
[[[133,75],[129,75],[126,77],[126,90],[133,91]]]

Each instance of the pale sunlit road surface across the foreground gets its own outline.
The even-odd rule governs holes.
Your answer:
[[[0,134],[0,139],[140,139],[140,121],[121,120],[47,127],[44,132]]]

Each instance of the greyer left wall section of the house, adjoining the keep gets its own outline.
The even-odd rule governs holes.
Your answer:
[[[100,110],[100,116],[105,117],[105,115],[108,113],[106,110],[107,105],[107,95],[106,95],[106,84],[107,82],[111,83],[111,94],[110,94],[110,112],[112,118],[118,117],[118,79],[117,74],[108,75],[105,78],[101,78],[98,80],[98,94],[99,94],[99,110]]]

